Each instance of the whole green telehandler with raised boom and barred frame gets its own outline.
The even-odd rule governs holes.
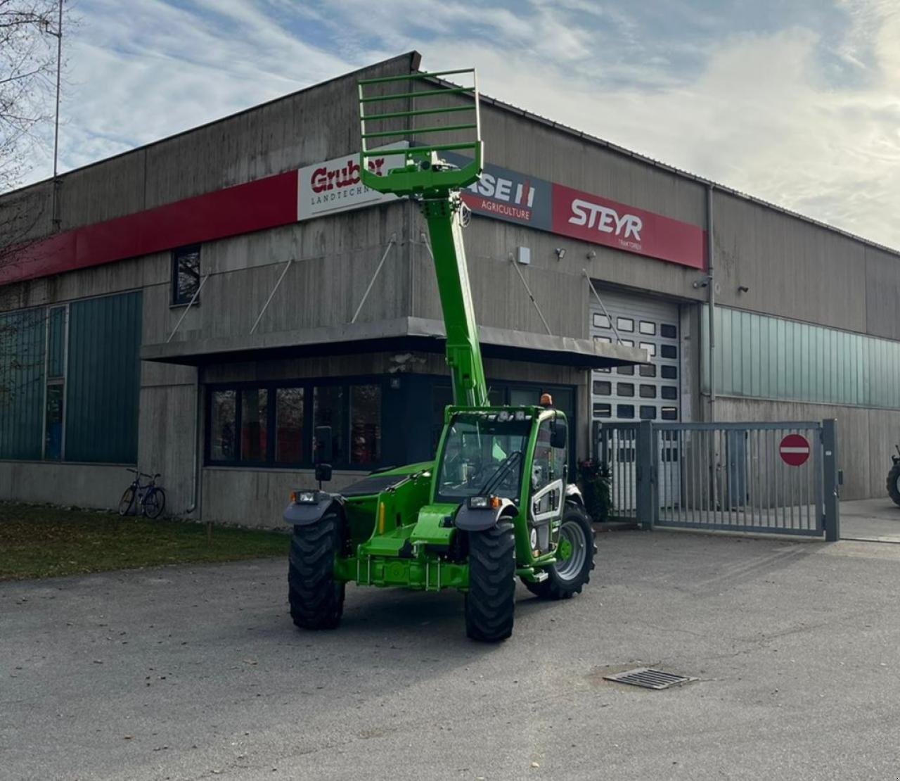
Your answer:
[[[421,79],[470,75],[472,86],[429,89]],[[402,91],[391,92],[401,83]],[[426,88],[416,89],[418,86]],[[329,430],[316,431],[318,489],[293,491],[284,521],[293,526],[288,572],[293,622],[304,629],[338,626],[345,586],[455,588],[465,598],[466,633],[498,641],[513,628],[516,578],[547,599],[581,592],[594,568],[594,532],[579,489],[567,481],[568,423],[549,396],[535,406],[491,406],[473,313],[462,227],[460,188],[482,171],[478,87],[473,70],[410,74],[360,82],[363,183],[410,196],[428,221],[446,323],[446,360],[455,404],[446,407],[434,461],[392,468],[340,493],[321,489],[330,477]],[[461,95],[463,98],[451,97]],[[433,107],[433,102],[459,104]],[[427,108],[366,112],[383,101],[425,99]],[[421,104],[419,104],[421,105]],[[468,112],[471,121],[369,132],[367,123],[418,121]],[[383,152],[367,142],[400,134],[434,137],[472,132],[474,140],[416,144],[404,163],[381,176],[368,165]],[[466,151],[455,166],[443,151]],[[392,154],[397,154],[392,150]]]

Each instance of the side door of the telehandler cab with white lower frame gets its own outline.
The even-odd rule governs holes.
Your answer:
[[[529,482],[528,534],[532,551],[556,545],[565,501],[565,418],[547,418],[538,426],[535,451],[526,473]]]

